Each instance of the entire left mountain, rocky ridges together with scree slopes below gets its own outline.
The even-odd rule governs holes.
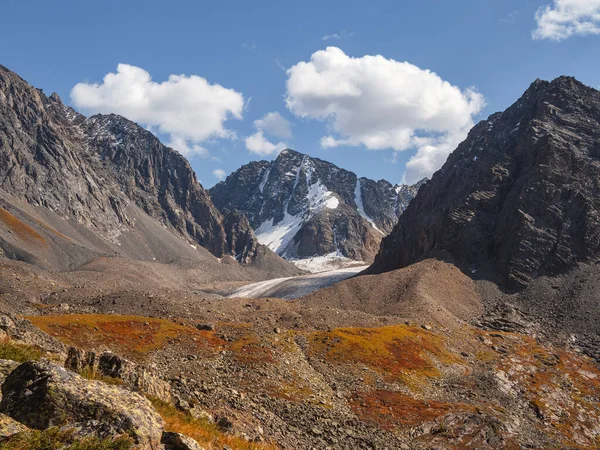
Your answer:
[[[206,259],[197,246],[242,264],[279,259],[245,217],[222,215],[187,160],[150,132],[114,114],[86,118],[2,66],[0,143],[7,256],[61,269],[100,255]]]

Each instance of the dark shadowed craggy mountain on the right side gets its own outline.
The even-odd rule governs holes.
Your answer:
[[[384,239],[371,272],[450,252],[509,288],[600,256],[600,92],[536,81],[480,122]]]

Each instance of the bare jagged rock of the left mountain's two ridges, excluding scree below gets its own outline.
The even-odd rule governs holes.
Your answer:
[[[2,66],[0,146],[1,190],[113,243],[135,228],[128,212],[135,205],[217,257],[256,255],[247,221],[225,220],[179,153],[121,116],[86,119]]]

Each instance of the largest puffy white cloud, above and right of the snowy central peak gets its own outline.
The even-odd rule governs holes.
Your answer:
[[[438,169],[485,106],[474,89],[463,91],[429,70],[380,55],[352,58],[337,47],[313,53],[287,75],[289,110],[329,124],[322,147],[416,149],[407,182]]]

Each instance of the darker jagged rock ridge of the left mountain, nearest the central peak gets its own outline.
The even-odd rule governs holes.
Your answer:
[[[222,218],[182,155],[115,114],[93,116],[83,127],[128,198],[214,255],[229,253]]]

